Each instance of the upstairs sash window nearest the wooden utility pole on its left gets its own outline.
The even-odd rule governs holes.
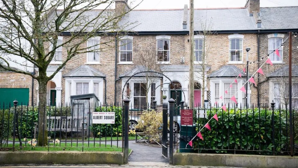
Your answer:
[[[170,40],[157,40],[157,61],[170,61]]]

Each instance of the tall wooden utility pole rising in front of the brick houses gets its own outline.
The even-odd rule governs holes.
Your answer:
[[[193,39],[193,12],[194,12],[194,7],[193,7],[193,0],[189,0],[189,108],[193,108],[193,92],[194,92],[194,74],[193,74],[193,61],[194,61],[194,56],[193,56],[193,44],[194,44],[194,39]]]

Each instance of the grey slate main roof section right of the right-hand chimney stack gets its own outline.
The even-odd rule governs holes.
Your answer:
[[[261,7],[262,29],[298,29],[298,6]]]

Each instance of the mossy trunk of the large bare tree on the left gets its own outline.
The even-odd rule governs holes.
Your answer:
[[[38,78],[38,146],[47,146],[47,74],[39,70]]]

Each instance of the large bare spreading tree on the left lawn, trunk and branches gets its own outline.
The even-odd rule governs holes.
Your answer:
[[[98,44],[88,47],[82,45],[88,39],[116,34],[124,31],[130,24],[120,24],[120,20],[133,8],[114,12],[111,10],[114,2],[115,0],[1,0],[0,60],[6,66],[0,64],[0,67],[29,75],[38,81],[38,146],[47,145],[47,124],[42,122],[47,121],[44,110],[47,82],[74,56],[99,50],[95,49]],[[104,8],[94,10],[97,7]],[[66,36],[63,42],[57,42],[59,35]],[[105,44],[101,45],[101,49],[112,47],[109,45],[111,41],[101,42]],[[29,44],[29,47],[25,44]],[[60,58],[61,64],[56,71],[47,76],[47,67],[52,60],[57,60],[56,49],[62,46],[66,55]],[[11,57],[16,57],[16,60],[25,58],[38,68],[38,74],[12,68],[7,59]]]

